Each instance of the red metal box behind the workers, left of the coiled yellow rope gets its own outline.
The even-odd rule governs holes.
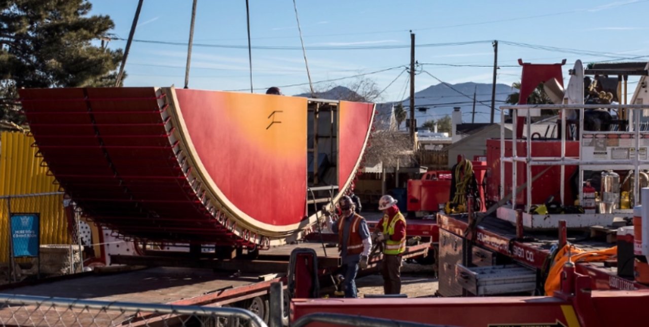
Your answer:
[[[439,205],[448,201],[451,172],[437,170],[426,172],[421,179],[408,181],[408,211],[439,210]]]

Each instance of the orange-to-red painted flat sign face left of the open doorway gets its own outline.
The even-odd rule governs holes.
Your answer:
[[[194,150],[225,198],[261,223],[299,223],[306,201],[306,98],[176,92]]]

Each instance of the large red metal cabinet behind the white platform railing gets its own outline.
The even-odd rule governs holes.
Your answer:
[[[527,153],[527,142],[522,140],[517,147],[517,155],[524,157]],[[579,141],[566,141],[567,157],[579,156]],[[511,140],[505,141],[505,156],[511,157]],[[532,140],[532,157],[559,157],[561,156],[561,140]],[[500,200],[500,140],[487,140],[487,164],[489,173],[487,174],[487,201]],[[525,164],[518,163],[517,166],[517,185],[520,186],[526,182]],[[532,177],[539,174],[546,167],[532,167]],[[570,176],[577,169],[577,166],[565,166],[565,198],[566,204],[572,204],[572,190],[570,188]],[[545,203],[550,196],[559,199],[559,190],[561,183],[559,175],[561,168],[553,166],[541,177],[532,183],[532,201],[530,203]],[[505,164],[505,194],[511,193],[511,176],[513,175],[511,163]],[[517,203],[525,203],[526,192],[520,192],[516,197]]]

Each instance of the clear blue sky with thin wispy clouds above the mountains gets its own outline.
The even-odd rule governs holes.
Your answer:
[[[112,17],[117,38],[128,38],[137,0],[90,2],[92,14]],[[134,39],[174,44],[135,41],[126,86],[184,85],[191,3],[144,1]],[[287,95],[308,91],[293,1],[250,0],[249,6],[254,92],[273,85]],[[368,78],[384,90],[384,101],[408,97],[409,30],[415,33],[415,58],[422,63],[417,91],[439,80],[491,83],[494,39],[499,42],[498,83],[520,80],[518,58],[533,63],[567,59],[567,81],[567,70],[578,59],[649,60],[648,12],[649,0],[297,0],[312,81],[321,82],[315,88]],[[245,1],[199,0],[195,24],[190,88],[249,92]],[[110,41],[110,47],[125,46],[124,40]],[[332,81],[322,82],[327,80]],[[632,92],[635,85],[629,88]]]

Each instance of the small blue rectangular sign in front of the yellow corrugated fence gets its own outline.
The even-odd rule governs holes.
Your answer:
[[[39,223],[39,214],[11,214],[11,238],[14,245],[14,258],[38,256],[38,248],[40,247]]]

